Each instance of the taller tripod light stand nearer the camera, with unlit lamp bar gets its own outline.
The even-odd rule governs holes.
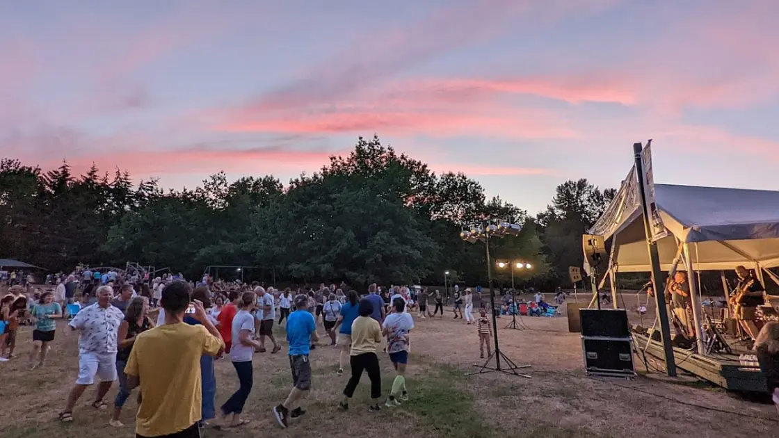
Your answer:
[[[508,356],[500,351],[500,344],[498,342],[498,320],[496,320],[495,315],[495,290],[492,288],[492,260],[490,259],[489,255],[490,238],[501,238],[503,236],[518,235],[520,234],[521,227],[517,224],[509,224],[508,222],[500,222],[499,224],[495,225],[489,223],[488,221],[482,221],[481,223],[471,224],[469,228],[464,228],[464,230],[460,232],[460,238],[470,243],[475,243],[477,240],[485,243],[485,250],[487,253],[487,281],[489,284],[489,300],[490,305],[492,306],[492,327],[495,327],[495,331],[493,332],[495,351],[492,351],[492,354],[489,355],[485,363],[481,365],[481,369],[479,369],[478,372],[471,374],[482,374],[498,371],[500,373],[513,374],[514,376],[522,376],[530,379],[531,377],[527,374],[520,374],[516,372],[517,369],[530,368],[529,365],[518,366],[511,359],[509,359]],[[492,358],[495,358],[495,366],[488,366]],[[501,366],[501,359],[503,359],[508,366]]]

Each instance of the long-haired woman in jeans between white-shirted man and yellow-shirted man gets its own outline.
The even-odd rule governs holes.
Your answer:
[[[116,353],[116,371],[119,375],[119,392],[116,393],[116,398],[114,399],[114,415],[111,417],[111,421],[108,422],[108,424],[114,427],[125,426],[119,421],[119,415],[122,415],[122,407],[125,405],[125,401],[127,401],[128,397],[130,397],[130,390],[127,388],[125,366],[127,365],[127,359],[130,357],[130,351],[132,351],[132,344],[135,343],[136,336],[154,327],[146,316],[148,309],[149,304],[146,301],[146,298],[132,298],[127,305],[125,320],[119,325],[119,334],[117,337],[119,351]]]

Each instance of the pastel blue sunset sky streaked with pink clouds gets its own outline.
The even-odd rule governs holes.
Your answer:
[[[0,156],[167,187],[358,136],[530,214],[555,186],[779,189],[779,2],[0,0]]]

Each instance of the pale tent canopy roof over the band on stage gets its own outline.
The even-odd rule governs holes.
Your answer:
[[[640,206],[620,192],[590,232],[611,239],[616,270],[648,272]],[[668,230],[657,241],[661,270],[671,270],[685,243],[694,270],[779,267],[779,192],[656,184],[654,197]]]

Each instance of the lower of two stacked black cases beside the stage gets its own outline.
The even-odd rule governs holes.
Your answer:
[[[592,376],[635,376],[631,337],[603,338],[582,336],[584,369]]]

